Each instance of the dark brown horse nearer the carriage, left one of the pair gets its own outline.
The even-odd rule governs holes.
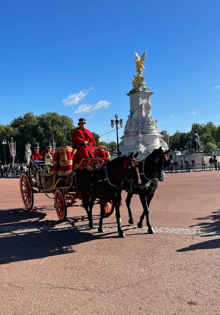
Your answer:
[[[102,221],[105,215],[105,203],[112,200],[115,207],[115,216],[118,224],[119,236],[124,238],[125,234],[120,223],[121,192],[124,181],[127,185],[141,185],[138,173],[138,162],[133,157],[134,152],[129,155],[120,156],[112,161],[96,167],[89,165],[76,171],[77,186],[81,192],[84,209],[87,212],[89,226],[93,229],[92,208],[96,198],[100,203],[100,220],[98,232],[104,232]],[[129,184],[128,184],[129,183]]]

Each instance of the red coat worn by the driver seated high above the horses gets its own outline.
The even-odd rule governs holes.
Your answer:
[[[77,149],[79,157],[94,157],[92,147],[93,144],[96,143],[96,141],[94,140],[93,135],[91,134],[89,129],[85,129],[84,127],[77,127],[72,132],[71,140],[72,147]],[[84,141],[87,141],[88,145],[85,145]]]

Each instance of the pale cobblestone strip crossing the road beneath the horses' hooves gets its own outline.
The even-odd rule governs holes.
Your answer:
[[[72,226],[71,224],[66,225],[55,225],[55,226],[0,226],[0,232],[14,232],[14,231],[45,231],[45,230],[65,230],[72,229],[75,231],[87,231],[90,228],[87,225]],[[98,226],[94,230],[97,230]],[[104,226],[105,231],[117,231],[117,226]],[[124,226],[124,231],[148,231],[148,228],[144,226],[142,229],[136,226]],[[189,234],[189,235],[200,235],[210,237],[220,237],[220,231],[210,231],[209,229],[197,230],[197,229],[183,229],[183,228],[172,228],[172,227],[154,227],[155,232],[159,233],[176,233],[176,234]],[[92,230],[91,230],[92,231]]]

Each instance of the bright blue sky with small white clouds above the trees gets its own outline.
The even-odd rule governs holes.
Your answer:
[[[133,51],[147,50],[143,75],[159,130],[220,125],[219,21],[218,0],[2,0],[0,124],[55,111],[75,125],[84,117],[99,135],[116,113],[125,125]]]

